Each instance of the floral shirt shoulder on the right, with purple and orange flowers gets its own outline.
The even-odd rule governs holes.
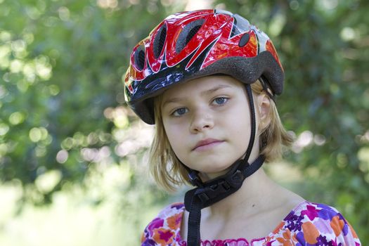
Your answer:
[[[291,245],[361,245],[358,236],[342,214],[328,205],[302,202],[276,228],[269,242]]]

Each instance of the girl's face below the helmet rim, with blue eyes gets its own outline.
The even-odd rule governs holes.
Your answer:
[[[245,154],[250,108],[245,86],[233,77],[209,76],[178,84],[164,91],[161,109],[171,148],[191,169],[212,178]],[[254,146],[259,146],[258,139]]]

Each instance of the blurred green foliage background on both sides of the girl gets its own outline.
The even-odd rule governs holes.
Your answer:
[[[124,105],[122,75],[136,42],[185,4],[0,0],[0,180],[22,187],[20,206],[45,205],[58,190],[86,187],[91,171],[111,165],[127,173],[122,211],[166,202],[143,179],[149,143]],[[369,2],[212,6],[239,13],[273,40],[286,72],[280,116],[298,139],[287,160],[304,175],[293,188],[341,210],[368,245]],[[51,174],[53,183],[41,185]],[[97,195],[92,203],[103,200]]]

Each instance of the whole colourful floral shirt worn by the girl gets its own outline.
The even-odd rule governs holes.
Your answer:
[[[181,238],[183,203],[169,205],[146,226],[141,246],[186,246]],[[202,246],[358,246],[358,236],[349,222],[335,208],[327,205],[302,202],[297,205],[276,229],[265,238],[246,240],[202,240]]]

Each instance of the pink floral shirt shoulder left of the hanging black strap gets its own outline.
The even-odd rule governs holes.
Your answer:
[[[145,227],[141,245],[179,245],[184,205],[181,202],[164,207]]]

